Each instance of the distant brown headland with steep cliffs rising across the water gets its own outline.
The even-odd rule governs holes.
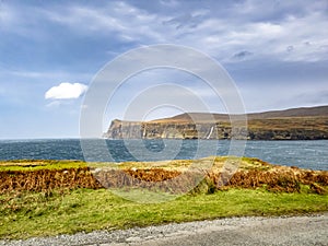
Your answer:
[[[328,106],[248,114],[247,128],[232,130],[229,115],[190,113],[152,121],[112,121],[109,139],[328,139]]]

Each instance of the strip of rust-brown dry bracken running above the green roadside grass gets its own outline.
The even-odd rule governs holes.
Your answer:
[[[236,188],[265,187],[270,191],[300,192],[301,185],[307,185],[313,192],[326,194],[328,172],[306,171],[297,167],[238,171],[234,175],[218,171],[179,172],[163,168],[143,169],[68,169],[2,171],[0,194],[12,190],[51,191],[56,188],[150,188],[167,192],[187,192],[200,180],[212,191]],[[199,189],[196,187],[195,189]]]

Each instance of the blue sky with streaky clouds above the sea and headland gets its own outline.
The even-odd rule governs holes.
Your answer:
[[[83,98],[98,71],[131,49],[157,44],[213,58],[234,81],[247,113],[327,105],[327,26],[325,0],[1,0],[0,139],[78,138]],[[124,118],[132,98],[163,83],[196,92],[211,112],[225,112],[199,78],[153,69],[116,90],[104,130]],[[162,90],[144,96],[184,101],[186,94]],[[142,119],[183,112],[154,104]]]

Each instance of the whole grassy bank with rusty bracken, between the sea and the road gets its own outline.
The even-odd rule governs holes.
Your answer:
[[[213,164],[211,168],[201,169],[209,161]],[[238,171],[224,180],[236,161]],[[197,172],[204,172],[204,178],[187,192],[183,188],[194,178],[196,171],[188,171],[192,164]],[[166,181],[171,179],[175,180],[177,191],[187,194],[162,203],[132,202],[134,199],[125,200],[102,188],[92,174],[106,187],[126,192],[125,198],[151,201],[159,194],[176,195],[176,190],[165,188],[169,188]],[[176,178],[180,174],[186,175]],[[0,162],[0,238],[223,216],[324,212],[328,211],[327,186],[328,172],[277,166],[247,157],[93,166],[72,161]]]

